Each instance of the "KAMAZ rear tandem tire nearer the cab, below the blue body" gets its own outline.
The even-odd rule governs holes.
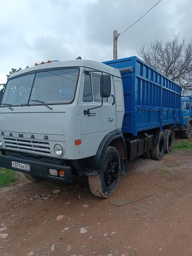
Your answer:
[[[155,160],[161,160],[164,155],[164,132],[159,132],[159,139],[157,145],[152,149],[152,158]]]

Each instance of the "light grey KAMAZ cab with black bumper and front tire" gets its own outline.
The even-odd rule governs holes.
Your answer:
[[[124,111],[120,72],[105,64],[53,61],[14,73],[0,107],[0,164],[33,180],[72,182],[73,173],[89,176],[93,194],[108,197],[119,169],[126,172]],[[110,140],[122,140],[120,156],[111,146],[103,160]],[[95,188],[102,161],[106,187],[98,188],[98,181]]]

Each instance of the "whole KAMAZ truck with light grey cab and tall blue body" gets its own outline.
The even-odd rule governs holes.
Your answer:
[[[181,90],[137,57],[36,63],[8,79],[0,166],[33,181],[87,176],[91,192],[107,198],[128,161],[171,151]]]

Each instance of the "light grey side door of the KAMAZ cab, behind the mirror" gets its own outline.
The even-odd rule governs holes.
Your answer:
[[[101,106],[101,74],[94,71],[83,74],[78,100],[82,157],[95,155],[106,134],[116,129],[116,110],[112,77],[111,82],[111,97],[103,98],[103,106]],[[97,109],[90,110],[91,115],[88,116],[86,111],[92,107],[97,107]]]

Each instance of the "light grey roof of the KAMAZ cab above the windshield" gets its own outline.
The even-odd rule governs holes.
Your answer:
[[[16,73],[13,73],[9,76],[9,78],[13,78],[18,75],[22,75],[29,72],[35,72],[36,70],[46,70],[46,69],[52,69],[52,68],[70,68],[70,67],[76,67],[76,66],[84,66],[88,69],[95,69],[99,71],[103,71],[107,74],[111,74],[113,76],[121,77],[120,72],[118,69],[112,68],[111,66],[105,65],[98,61],[93,60],[67,60],[67,61],[53,61],[45,64],[38,64],[36,66],[32,66],[31,68],[24,69],[21,71],[18,71]]]

